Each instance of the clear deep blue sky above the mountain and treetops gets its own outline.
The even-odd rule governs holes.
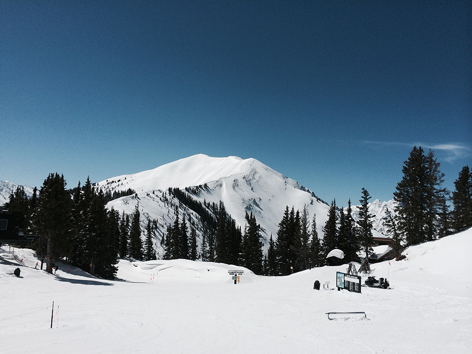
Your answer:
[[[453,189],[471,33],[471,1],[0,0],[0,180],[235,155],[346,206],[420,145]]]

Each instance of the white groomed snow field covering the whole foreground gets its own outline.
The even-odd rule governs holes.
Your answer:
[[[372,266],[389,289],[355,294],[333,289],[346,266],[263,277],[215,263],[121,260],[119,280],[106,281],[65,264],[47,274],[32,251],[3,246],[0,353],[470,353],[472,230],[404,254]],[[244,270],[239,284],[228,270]],[[326,315],[352,311],[367,318]]]

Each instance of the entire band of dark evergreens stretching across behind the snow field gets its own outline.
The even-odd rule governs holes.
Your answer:
[[[444,175],[432,150],[425,155],[421,147],[414,147],[402,172],[404,176],[394,192],[394,212],[386,210],[384,218],[396,255],[405,246],[472,226],[469,166],[459,173],[452,196],[442,187]],[[118,258],[156,259],[157,220],[148,219],[143,242],[139,203],[133,214],[122,212],[120,215],[113,208],[106,208],[110,196],[95,188],[89,179],[83,186],[79,182],[73,190],[65,187],[63,176],[50,174],[39,191],[34,188],[31,198],[18,187],[5,205],[10,211],[25,215],[26,233],[40,235],[33,246],[38,256],[47,259],[47,271],[52,272],[54,260],[64,260],[93,275],[113,279]],[[169,188],[169,196],[176,196],[179,201],[177,205],[169,203],[163,193],[176,215],[160,240],[164,259],[219,262],[245,266],[256,274],[287,275],[324,265],[327,253],[335,248],[344,252],[346,262],[358,261],[361,251],[366,257],[372,253],[373,215],[369,213],[371,197],[365,188],[359,199],[357,222],[354,222],[350,200],[346,209],[337,207],[333,200],[322,227],[322,239],[315,215],[310,220],[306,206],[301,211],[286,206],[277,238],[274,240],[271,235],[268,240],[266,255],[263,254],[265,240],[255,215],[246,212],[242,230],[222,202],[201,203],[192,198],[191,194],[199,194],[204,189],[207,185],[185,191]],[[447,201],[452,203],[450,211]],[[200,222],[195,223],[190,213],[179,215],[180,204],[193,210]]]

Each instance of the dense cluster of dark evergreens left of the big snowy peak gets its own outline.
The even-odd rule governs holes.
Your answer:
[[[146,242],[142,244],[140,214],[132,218],[114,208],[107,209],[108,198],[101,189],[87,182],[66,189],[63,175],[50,174],[40,190],[35,187],[28,198],[18,187],[4,208],[25,216],[23,230],[38,235],[32,247],[46,260],[52,273],[56,260],[63,260],[105,279],[117,273],[118,257],[155,259],[152,236],[157,223],[148,222]],[[149,242],[151,240],[151,242]]]

